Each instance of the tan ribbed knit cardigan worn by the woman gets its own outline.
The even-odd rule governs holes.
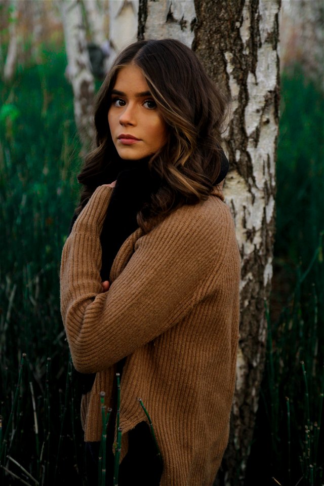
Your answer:
[[[183,206],[121,246],[102,293],[100,233],[112,188],[100,186],[74,223],[61,265],[61,312],[74,367],[96,372],[83,397],[85,440],[101,437],[100,391],[121,379],[127,432],[151,416],[161,486],[211,486],[229,432],[238,341],[240,260],[222,193]]]

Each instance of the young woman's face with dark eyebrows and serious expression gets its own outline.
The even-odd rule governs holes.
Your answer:
[[[126,160],[153,155],[167,141],[166,124],[142,71],[134,64],[123,67],[117,74],[108,124],[116,150]]]

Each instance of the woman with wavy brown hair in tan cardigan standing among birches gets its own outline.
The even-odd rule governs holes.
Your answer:
[[[86,377],[94,470],[100,392],[115,412],[122,374],[119,486],[210,486],[228,441],[240,264],[221,191],[225,116],[224,97],[173,39],[126,48],[98,94],[97,148],[78,177],[84,189],[63,249],[61,311]]]

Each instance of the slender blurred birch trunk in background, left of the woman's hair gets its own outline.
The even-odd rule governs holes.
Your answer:
[[[80,1],[61,0],[60,6],[68,59],[67,71],[73,88],[75,123],[86,150],[93,138],[94,100],[94,78],[91,73],[86,32]]]

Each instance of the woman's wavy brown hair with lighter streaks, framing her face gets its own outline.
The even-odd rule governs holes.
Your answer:
[[[85,159],[77,179],[84,185],[82,210],[96,187],[116,177],[119,155],[113,144],[107,113],[118,71],[139,67],[167,126],[168,139],[148,161],[158,189],[138,213],[138,224],[159,214],[168,215],[184,204],[196,204],[211,193],[221,167],[221,133],[228,100],[208,77],[187,46],[175,39],[139,41],[115,59],[95,103],[95,148]]]

